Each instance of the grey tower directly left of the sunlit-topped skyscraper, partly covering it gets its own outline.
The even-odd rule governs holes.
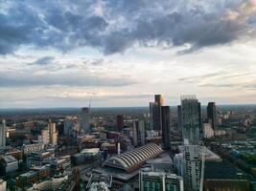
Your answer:
[[[150,122],[151,130],[159,131],[160,130],[160,112],[158,103],[150,102]]]

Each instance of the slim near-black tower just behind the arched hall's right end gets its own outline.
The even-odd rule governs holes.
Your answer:
[[[166,150],[171,148],[171,130],[170,130],[170,107],[161,106],[161,121],[162,121],[162,140]]]

